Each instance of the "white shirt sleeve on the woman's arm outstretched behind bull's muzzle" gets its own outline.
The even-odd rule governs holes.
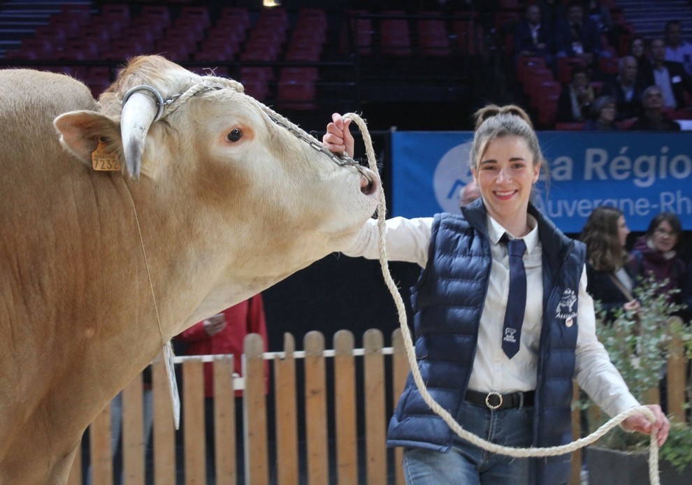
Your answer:
[[[392,217],[385,221],[385,247],[390,261],[408,261],[424,268],[428,262],[432,217],[405,219]],[[377,219],[368,219],[356,242],[346,249],[347,256],[380,259],[380,229]]]

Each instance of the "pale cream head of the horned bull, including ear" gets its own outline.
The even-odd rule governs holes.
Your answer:
[[[164,204],[156,212],[175,214],[177,237],[189,231],[202,255],[232,246],[186,324],[343,249],[375,211],[377,174],[338,160],[238,82],[138,57],[99,101],[101,113],[55,120],[64,147],[90,165],[101,140],[131,178],[143,175],[128,182],[137,208]]]

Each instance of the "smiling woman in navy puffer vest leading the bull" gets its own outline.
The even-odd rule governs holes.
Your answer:
[[[324,145],[352,155],[348,126],[348,120],[333,115]],[[596,339],[593,301],[583,276],[584,247],[529,202],[543,157],[524,110],[479,110],[470,161],[481,197],[461,208],[461,215],[387,221],[390,259],[423,268],[412,289],[422,377],[442,407],[486,440],[510,447],[570,442],[572,377],[609,414],[637,405]],[[519,257],[531,291],[508,296],[505,238],[508,245],[517,239],[526,245]],[[378,258],[377,240],[372,219],[345,254]],[[523,324],[508,332],[505,309],[515,303],[525,305]],[[512,344],[518,351],[510,358],[503,347]],[[660,445],[670,424],[660,407],[650,408],[654,424],[636,414],[623,425],[644,433],[655,428]],[[510,458],[457,437],[424,403],[410,376],[389,424],[388,444],[405,447],[409,484],[563,484],[569,479],[569,456]]]

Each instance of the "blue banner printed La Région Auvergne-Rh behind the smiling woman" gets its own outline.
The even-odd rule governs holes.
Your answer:
[[[473,180],[473,133],[392,133],[391,216],[459,213],[459,192]],[[535,203],[565,233],[579,233],[598,205],[623,211],[633,231],[658,212],[675,212],[692,229],[692,133],[538,133],[548,161]]]

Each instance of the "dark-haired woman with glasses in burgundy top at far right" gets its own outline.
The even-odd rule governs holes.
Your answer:
[[[649,222],[647,232],[637,240],[632,252],[636,275],[642,278],[651,276],[657,282],[667,283],[662,291],[682,289],[687,268],[677,255],[682,224],[672,212],[661,212]],[[679,303],[679,294],[671,294],[670,300]]]

